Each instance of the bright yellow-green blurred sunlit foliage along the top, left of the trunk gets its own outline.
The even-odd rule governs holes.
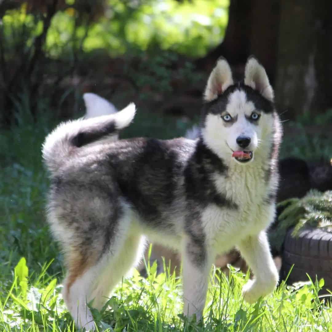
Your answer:
[[[49,56],[69,55],[73,46],[85,52],[104,49],[112,56],[131,48],[202,56],[224,36],[229,0],[107,0],[97,18],[82,15],[78,4],[67,0],[53,16],[45,45]],[[41,18],[27,8],[23,3],[3,16],[6,44],[15,42],[13,32],[25,30],[27,46],[41,34]]]

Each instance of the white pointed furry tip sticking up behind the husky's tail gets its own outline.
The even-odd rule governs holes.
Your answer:
[[[95,93],[85,93],[83,99],[86,107],[86,119],[118,112],[112,103]]]

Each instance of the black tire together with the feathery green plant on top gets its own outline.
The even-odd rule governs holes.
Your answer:
[[[288,283],[324,278],[332,290],[332,191],[311,190],[301,199],[279,203],[284,208],[278,225],[270,232],[272,245],[283,247],[281,278],[290,268]]]

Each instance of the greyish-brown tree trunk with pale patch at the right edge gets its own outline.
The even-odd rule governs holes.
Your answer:
[[[281,0],[276,101],[287,118],[332,105],[332,2]]]

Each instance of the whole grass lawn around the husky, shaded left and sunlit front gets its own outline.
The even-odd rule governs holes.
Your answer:
[[[190,125],[155,120],[153,135],[163,138]],[[33,124],[28,116],[18,122],[0,132],[0,331],[74,331],[61,298],[62,256],[44,217],[48,180],[41,143],[54,124],[43,117]],[[140,132],[139,122],[125,135]],[[153,265],[147,279],[136,271],[123,279],[109,306],[94,311],[99,331],[332,331],[330,297],[318,295],[323,281],[282,283],[273,295],[248,305],[241,296],[248,276],[235,270],[229,278],[217,275],[211,271],[204,325],[183,319],[181,279],[156,276]]]

